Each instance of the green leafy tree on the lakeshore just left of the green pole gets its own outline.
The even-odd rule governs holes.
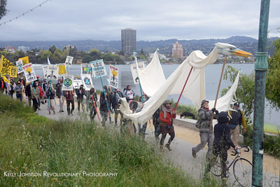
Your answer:
[[[235,78],[237,77],[238,70],[230,65],[227,65],[225,68],[225,74],[223,75],[223,79],[230,81],[230,83],[235,82]],[[225,88],[222,90],[221,95],[225,95],[226,92],[230,89]],[[239,75],[239,83],[237,86],[236,97],[237,102],[242,104],[242,111],[246,118],[250,118],[251,113],[253,113],[253,100],[254,100],[254,92],[255,92],[255,74],[240,74]]]

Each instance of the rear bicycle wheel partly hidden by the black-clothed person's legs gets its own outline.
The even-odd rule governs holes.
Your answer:
[[[207,151],[206,154],[207,167],[211,167],[210,172],[215,176],[221,176],[221,159],[218,155],[217,157],[213,154],[212,149]]]

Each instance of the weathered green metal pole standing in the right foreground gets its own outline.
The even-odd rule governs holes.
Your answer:
[[[252,186],[262,186],[263,132],[265,116],[265,81],[267,63],[267,28],[270,0],[261,0],[258,53],[255,62],[255,97],[253,113]]]

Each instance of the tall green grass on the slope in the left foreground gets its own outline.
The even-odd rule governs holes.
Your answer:
[[[217,186],[195,181],[155,147],[87,121],[50,120],[0,95],[0,183],[3,186]],[[4,172],[17,176],[4,176]],[[42,176],[19,177],[20,172]],[[43,172],[80,176],[43,176]],[[116,176],[82,176],[117,173]]]

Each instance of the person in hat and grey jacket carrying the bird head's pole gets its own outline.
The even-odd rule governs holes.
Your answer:
[[[196,158],[196,153],[208,143],[208,150],[211,149],[213,145],[214,140],[214,134],[213,134],[213,128],[211,128],[211,131],[209,130],[210,124],[211,124],[211,116],[212,113],[215,112],[216,116],[214,118],[217,118],[218,111],[213,108],[209,110],[209,101],[202,100],[202,104],[200,109],[198,110],[198,121],[200,122],[200,144],[192,148],[192,155],[194,158]]]

